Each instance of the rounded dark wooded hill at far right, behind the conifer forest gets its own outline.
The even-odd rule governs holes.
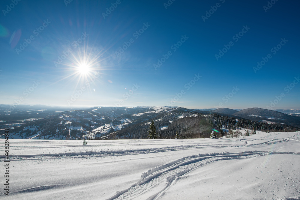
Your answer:
[[[267,110],[263,108],[247,108],[232,115],[245,119],[251,119],[256,121],[271,121],[276,123],[288,124],[292,126],[300,127],[300,118],[296,116],[287,115],[282,112],[274,110]]]

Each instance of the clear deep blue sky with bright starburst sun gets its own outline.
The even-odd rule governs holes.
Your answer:
[[[299,108],[299,1],[167,2],[1,1],[0,104]]]

